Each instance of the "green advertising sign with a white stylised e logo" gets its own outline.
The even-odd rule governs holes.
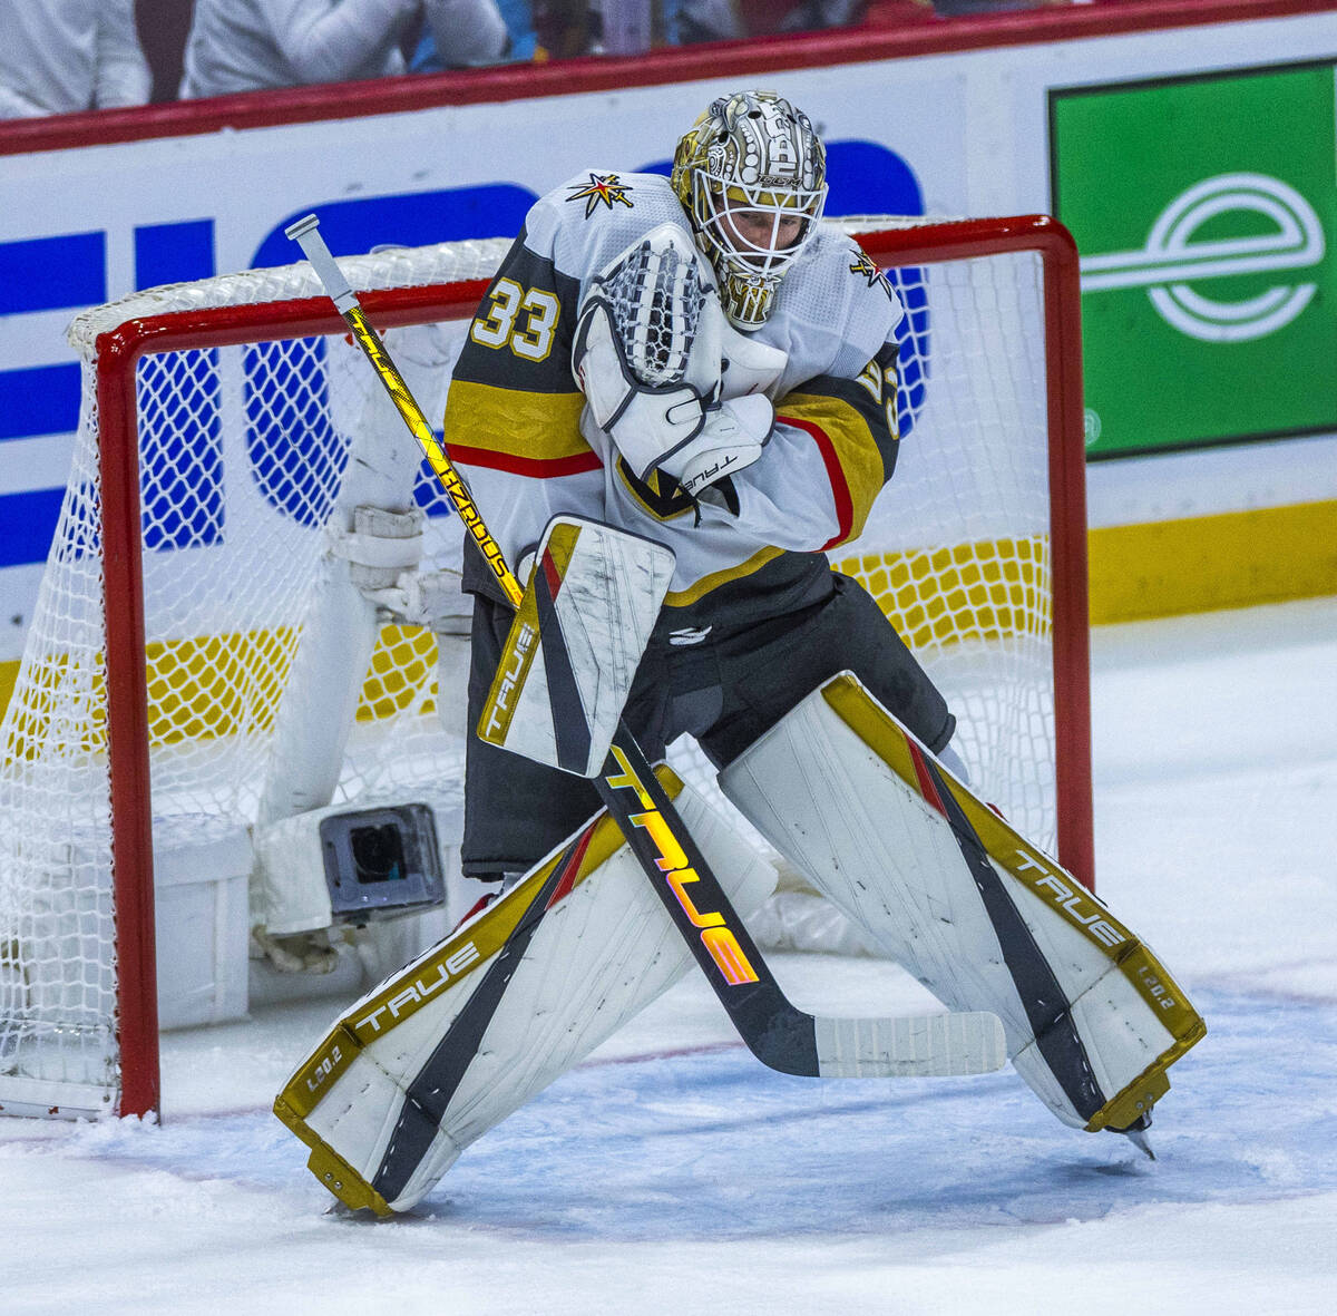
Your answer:
[[[1050,94],[1087,453],[1337,431],[1332,62]]]

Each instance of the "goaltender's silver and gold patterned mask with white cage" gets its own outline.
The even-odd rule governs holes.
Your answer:
[[[759,328],[826,201],[826,151],[808,116],[773,91],[721,96],[678,143],[673,189],[725,314]]]

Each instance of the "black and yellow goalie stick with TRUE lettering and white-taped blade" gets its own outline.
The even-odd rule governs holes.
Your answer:
[[[421,444],[469,539],[512,606],[519,607],[524,595],[519,580],[340,271],[320,234],[320,219],[306,215],[285,233],[301,246],[353,341]],[[877,1078],[981,1074],[1005,1063],[1001,1022],[987,1011],[844,1019],[797,1008],[781,991],[624,722],[619,722],[608,757],[591,780],[739,1036],[763,1065],[810,1078]]]

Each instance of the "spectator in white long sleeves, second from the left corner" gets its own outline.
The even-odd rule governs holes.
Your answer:
[[[405,72],[425,21],[449,67],[505,48],[496,0],[195,0],[183,99]]]

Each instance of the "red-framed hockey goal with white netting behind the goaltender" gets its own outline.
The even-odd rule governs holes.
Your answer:
[[[834,563],[943,689],[976,790],[1090,880],[1071,239],[1044,217],[844,223],[909,316],[896,477]],[[507,245],[341,266],[382,330],[445,324],[449,340]],[[0,729],[0,1110],[158,1106],[154,863],[255,822],[325,526],[380,405],[342,330],[305,263],[135,294],[71,326],[74,464]],[[447,376],[418,397],[428,415]],[[414,498],[424,562],[457,559],[425,465]],[[425,626],[381,626],[333,802],[459,792],[461,745],[436,713],[463,693],[437,690],[435,649]],[[675,752],[705,776],[691,746]]]

